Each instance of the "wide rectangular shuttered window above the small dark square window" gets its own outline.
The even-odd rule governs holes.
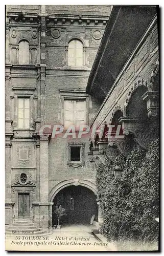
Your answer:
[[[76,130],[86,120],[86,101],[85,100],[64,100],[64,128],[75,125]]]

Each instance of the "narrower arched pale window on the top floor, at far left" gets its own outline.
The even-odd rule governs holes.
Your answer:
[[[19,64],[27,65],[30,63],[29,43],[27,41],[19,42]]]

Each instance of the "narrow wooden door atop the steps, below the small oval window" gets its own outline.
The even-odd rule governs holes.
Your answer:
[[[29,193],[18,193],[18,218],[29,218]]]

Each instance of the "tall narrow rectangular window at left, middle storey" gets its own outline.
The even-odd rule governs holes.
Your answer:
[[[18,98],[18,128],[30,127],[30,98]]]

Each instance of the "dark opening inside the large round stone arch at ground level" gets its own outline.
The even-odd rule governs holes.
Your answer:
[[[66,216],[61,217],[60,224],[89,224],[93,215],[98,222],[98,204],[96,195],[85,186],[70,185],[61,189],[53,199],[53,225],[57,224],[54,207],[59,203],[65,208]]]

